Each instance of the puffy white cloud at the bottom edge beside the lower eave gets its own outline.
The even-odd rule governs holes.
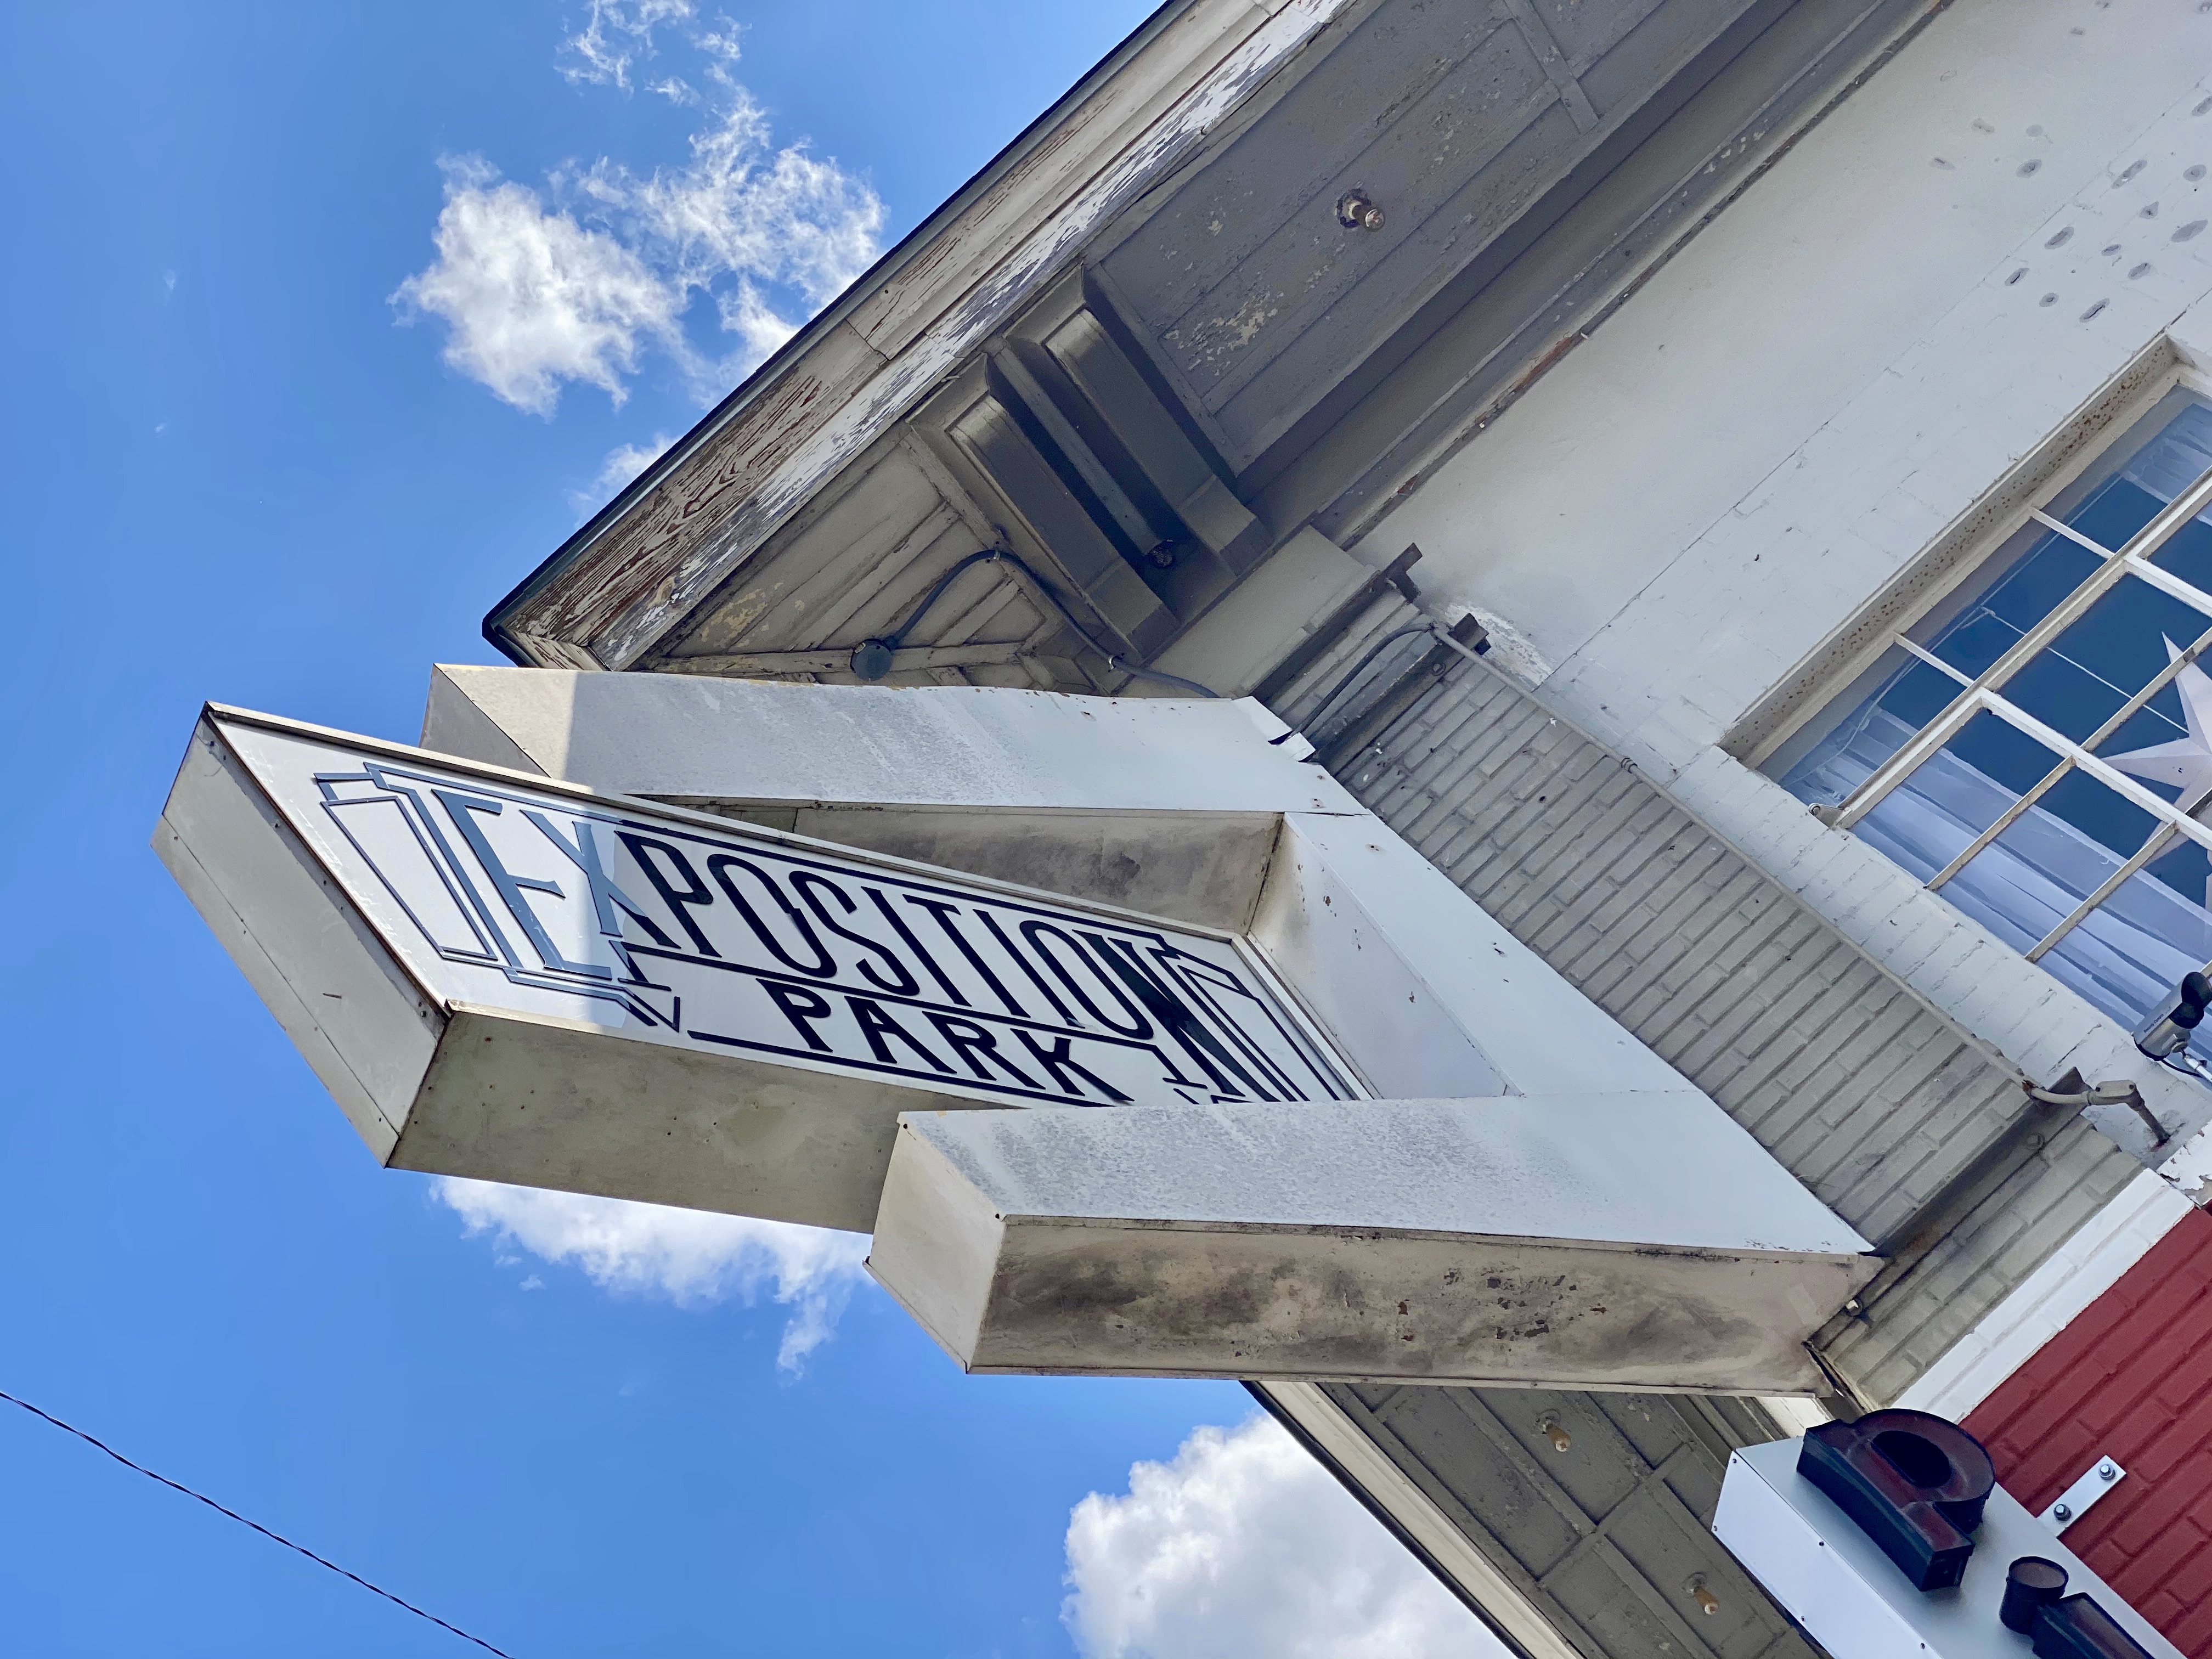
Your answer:
[[[1504,1646],[1274,1418],[1068,1515],[1060,1617],[1084,1659],[1469,1659]]]

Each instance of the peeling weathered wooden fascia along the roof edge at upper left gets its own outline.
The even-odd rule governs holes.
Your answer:
[[[1358,0],[1168,0],[487,617],[626,668]],[[732,507],[734,502],[734,507]]]

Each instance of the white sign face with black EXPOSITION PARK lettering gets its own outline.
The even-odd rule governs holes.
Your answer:
[[[1006,1104],[1356,1099],[1241,945],[234,721],[425,989]]]

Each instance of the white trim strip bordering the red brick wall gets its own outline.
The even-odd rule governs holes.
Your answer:
[[[2163,1179],[2143,1170],[2011,1296],[1936,1360],[1896,1405],[1953,1422],[1997,1391],[2013,1371],[2119,1283],[2190,1212]]]

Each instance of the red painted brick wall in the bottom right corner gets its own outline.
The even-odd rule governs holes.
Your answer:
[[[2181,1219],[1966,1418],[2031,1511],[2099,1455],[2128,1478],[2066,1528],[2137,1613],[2212,1659],[2212,1214]]]

